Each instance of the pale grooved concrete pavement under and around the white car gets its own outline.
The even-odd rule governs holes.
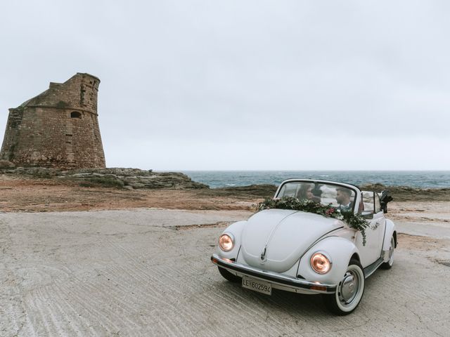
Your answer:
[[[217,236],[245,216],[0,214],[0,336],[449,336],[448,247],[400,245],[356,312],[334,317],[319,296],[266,296],[221,278]],[[207,224],[218,225],[188,226]]]

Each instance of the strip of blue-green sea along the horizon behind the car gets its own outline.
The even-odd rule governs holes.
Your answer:
[[[184,171],[192,180],[212,188],[254,184],[278,185],[285,179],[331,180],[353,185],[421,188],[450,187],[450,171]]]

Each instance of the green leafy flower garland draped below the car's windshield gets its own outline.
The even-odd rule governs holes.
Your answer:
[[[366,228],[370,223],[352,211],[340,211],[340,209],[331,206],[319,204],[318,202],[309,199],[297,199],[295,197],[282,197],[281,199],[264,199],[264,201],[255,205],[258,211],[263,209],[293,209],[295,211],[303,211],[309,213],[320,214],[326,218],[335,218],[342,220],[349,227],[359,230],[363,237],[363,246],[366,246]]]

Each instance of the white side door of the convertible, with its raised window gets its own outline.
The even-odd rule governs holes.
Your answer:
[[[367,267],[381,256],[383,235],[385,233],[385,216],[380,207],[380,199],[375,192],[361,192],[363,200],[363,212],[370,223],[366,228],[366,244],[363,244],[361,232],[357,234],[356,246],[358,246],[361,265]],[[376,202],[378,201],[378,202]]]

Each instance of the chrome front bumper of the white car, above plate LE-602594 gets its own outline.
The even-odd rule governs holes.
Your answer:
[[[239,277],[248,276],[255,279],[260,279],[264,282],[269,282],[273,288],[281,289],[285,291],[293,291],[295,293],[335,293],[335,284],[323,284],[320,282],[309,282],[305,279],[297,279],[296,277],[290,277],[280,274],[278,272],[270,272],[267,270],[261,270],[259,268],[250,267],[250,265],[243,265],[233,260],[221,258],[218,254],[214,253],[211,256],[212,263],[222,267],[233,275]]]

